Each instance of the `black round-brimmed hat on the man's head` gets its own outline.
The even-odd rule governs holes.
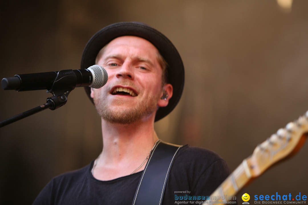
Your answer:
[[[184,65],[180,54],[171,41],[158,30],[140,22],[119,22],[111,24],[99,30],[87,42],[81,58],[81,69],[87,69],[95,64],[95,59],[100,49],[111,40],[120,36],[138,36],[150,41],[164,57],[168,63],[168,83],[173,86],[173,95],[169,99],[166,107],[160,107],[155,116],[155,121],[168,115],[180,101],[184,88]],[[86,93],[90,97],[90,87],[85,87]]]

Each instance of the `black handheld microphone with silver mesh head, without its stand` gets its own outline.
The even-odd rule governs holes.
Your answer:
[[[64,76],[66,74],[76,75],[76,82],[71,83],[74,84],[71,85],[73,87],[89,86],[91,88],[100,88],[103,87],[108,80],[107,71],[99,65],[92,65],[88,69],[62,71],[65,71]],[[1,86],[4,90],[49,90],[51,89],[57,75],[57,71],[15,75],[14,77],[3,78]]]

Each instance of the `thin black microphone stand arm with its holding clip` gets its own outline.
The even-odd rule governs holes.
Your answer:
[[[51,93],[53,97],[48,97],[47,102],[45,104],[42,104],[26,112],[22,112],[16,116],[1,121],[0,128],[8,124],[11,124],[13,122],[16,122],[17,120],[21,120],[25,117],[33,115],[42,110],[45,110],[47,108],[55,110],[61,107],[62,105],[66,104],[67,96],[73,89],[75,89],[77,82],[77,77],[75,73],[68,71],[71,70],[60,70],[57,73],[57,77],[55,78],[53,85],[49,90],[46,91],[46,93]]]

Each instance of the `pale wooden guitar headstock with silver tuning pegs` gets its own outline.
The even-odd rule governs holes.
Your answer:
[[[255,148],[252,156],[246,159],[251,176],[259,176],[274,163],[295,154],[304,144],[307,133],[308,111]]]

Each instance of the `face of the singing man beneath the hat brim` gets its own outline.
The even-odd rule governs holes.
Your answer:
[[[91,97],[104,120],[128,124],[155,116],[163,94],[157,53],[149,41],[134,36],[115,38],[99,53],[96,64],[106,69],[108,81]]]

